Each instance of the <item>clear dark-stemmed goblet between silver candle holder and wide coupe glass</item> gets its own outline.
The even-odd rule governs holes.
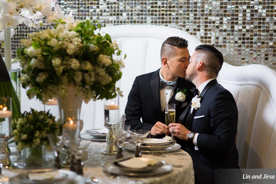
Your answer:
[[[124,141],[127,138],[127,133],[130,129],[129,125],[124,125],[123,127],[120,124],[112,125],[112,131],[115,135],[116,145],[117,145],[117,155],[116,159],[123,158],[123,145]]]

